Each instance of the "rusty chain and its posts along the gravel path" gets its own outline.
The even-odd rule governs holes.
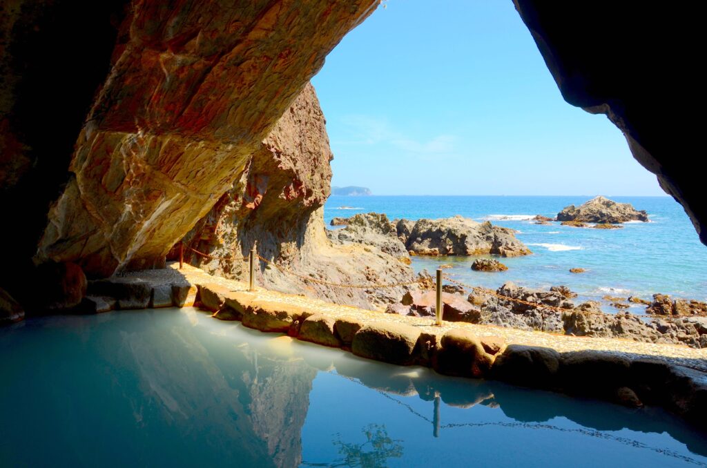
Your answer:
[[[191,250],[195,254],[204,257],[209,260],[218,260],[218,259],[236,259],[238,258],[236,255],[231,255],[230,257],[214,257],[213,255],[206,254],[204,252],[199,252],[199,250],[196,250],[192,247],[189,247],[188,245],[180,245],[180,267],[182,264],[182,256],[183,256],[183,250],[184,247],[186,247],[188,250]],[[513,303],[518,303],[522,305],[527,305],[531,308],[537,308],[541,310],[552,310],[555,312],[560,312],[560,313],[565,313],[565,312],[572,312],[573,309],[571,308],[561,308],[557,307],[555,305],[546,305],[543,303],[538,303],[538,302],[532,302],[529,300],[522,300],[518,298],[512,298],[510,296],[504,296],[503,294],[499,294],[496,291],[493,291],[492,289],[487,289],[487,288],[481,288],[480,286],[472,286],[467,283],[462,283],[462,281],[458,281],[456,279],[453,279],[450,275],[448,274],[443,274],[440,269],[437,270],[438,272],[438,277],[436,278],[436,281],[431,278],[419,278],[411,281],[400,281],[398,283],[367,283],[367,284],[346,284],[346,283],[336,283],[334,281],[327,281],[325,279],[318,279],[314,278],[312,276],[304,275],[304,274],[299,274],[296,271],[293,271],[292,269],[288,269],[280,264],[277,264],[276,262],[273,262],[271,260],[268,260],[261,255],[258,255],[257,252],[255,252],[255,248],[251,250],[250,255],[248,257],[242,257],[244,262],[249,262],[250,263],[250,271],[249,271],[249,280],[250,280],[250,291],[255,291],[255,260],[259,260],[261,262],[264,262],[264,264],[269,265],[271,267],[274,267],[281,271],[284,274],[288,274],[291,276],[295,276],[296,278],[302,280],[302,281],[307,281],[309,283],[315,283],[319,284],[321,286],[331,286],[334,288],[350,288],[350,289],[363,289],[363,290],[371,290],[371,289],[384,289],[384,288],[399,288],[403,286],[413,286],[415,284],[418,284],[421,286],[423,289],[436,289],[436,311],[441,311],[443,308],[443,300],[442,300],[442,280],[449,281],[452,284],[455,284],[457,286],[460,286],[462,288],[466,288],[470,291],[474,291],[474,293],[478,293],[484,296],[493,296],[495,298],[501,299],[501,300],[507,300]],[[691,315],[664,315],[664,314],[650,314],[650,315],[637,315],[637,314],[632,314],[630,312],[618,312],[616,314],[611,314],[607,312],[588,312],[592,314],[601,314],[601,315],[607,315],[609,317],[640,317],[643,319],[653,319],[653,318],[663,318],[663,319],[681,319],[681,318],[689,318],[689,317],[707,317],[707,314],[691,314]],[[437,324],[441,324],[442,317],[440,313],[437,313]]]

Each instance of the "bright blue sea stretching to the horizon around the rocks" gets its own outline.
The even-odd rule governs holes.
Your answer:
[[[650,223],[624,224],[623,229],[571,228],[551,223],[539,226],[532,216],[555,216],[569,204],[579,205],[592,197],[499,197],[499,196],[369,196],[329,197],[325,205],[327,225],[334,216],[353,216],[375,211],[393,218],[447,218],[460,214],[477,221],[518,230],[533,255],[502,259],[508,271],[472,271],[474,257],[413,257],[416,271],[431,273],[440,264],[459,281],[498,288],[506,281],[520,286],[549,288],[566,285],[580,294],[578,300],[602,296],[639,296],[654,293],[706,300],[707,247],[701,244],[689,218],[670,197],[611,197],[646,210]],[[342,208],[349,207],[349,208]],[[569,269],[587,271],[573,274]],[[609,303],[602,305],[614,311]],[[636,305],[633,313],[645,306]]]

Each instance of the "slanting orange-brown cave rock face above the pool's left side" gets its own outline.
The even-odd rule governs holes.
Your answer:
[[[135,1],[36,259],[92,276],[163,262],[375,4]],[[253,208],[264,183],[251,183]],[[293,180],[284,197],[312,197],[303,190]]]

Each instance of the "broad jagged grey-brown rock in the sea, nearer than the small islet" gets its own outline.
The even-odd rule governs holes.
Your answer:
[[[417,255],[496,254],[517,257],[532,253],[515,238],[513,229],[493,226],[489,221],[478,223],[462,216],[420,219],[409,233],[409,224],[403,221],[397,223],[397,227],[402,227],[398,235],[407,238],[407,250]]]

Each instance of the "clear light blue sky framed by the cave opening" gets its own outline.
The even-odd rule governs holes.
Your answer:
[[[665,195],[568,105],[510,0],[389,0],[312,79],[332,185],[374,194]]]

